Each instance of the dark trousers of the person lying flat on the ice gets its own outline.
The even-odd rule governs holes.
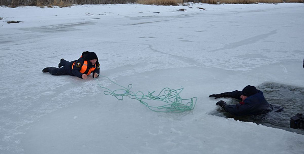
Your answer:
[[[51,73],[52,75],[72,75],[72,76],[74,76],[72,73],[71,62],[62,60],[62,61],[60,61],[59,64],[62,65],[63,67],[61,67],[61,68],[49,67],[49,69],[48,69],[49,73]]]

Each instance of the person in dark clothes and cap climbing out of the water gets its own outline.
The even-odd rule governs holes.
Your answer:
[[[221,98],[230,97],[242,100],[239,104],[230,105],[220,100],[216,105],[220,105],[226,112],[233,115],[252,115],[266,113],[272,110],[272,106],[264,98],[263,92],[257,90],[254,86],[246,86],[242,91],[226,92],[221,94],[212,94],[209,97]]]

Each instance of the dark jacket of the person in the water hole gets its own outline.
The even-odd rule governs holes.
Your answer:
[[[242,91],[233,91],[229,93],[229,97],[241,100]],[[258,93],[247,97],[244,102],[236,105],[227,104],[223,106],[225,111],[234,115],[251,115],[260,114],[271,111],[271,105],[264,98],[263,92],[258,90]]]

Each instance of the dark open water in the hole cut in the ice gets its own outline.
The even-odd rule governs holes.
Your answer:
[[[278,83],[263,83],[257,87],[264,93],[268,103],[272,104],[274,110],[279,106],[284,107],[281,112],[268,112],[262,115],[249,115],[244,117],[236,117],[223,109],[217,109],[211,112],[212,115],[220,117],[233,118],[243,122],[254,122],[267,127],[283,129],[290,132],[295,132],[304,135],[303,129],[290,128],[290,118],[297,113],[304,114],[304,88]],[[232,90],[233,91],[233,90]],[[238,100],[231,99],[228,104],[237,104]]]

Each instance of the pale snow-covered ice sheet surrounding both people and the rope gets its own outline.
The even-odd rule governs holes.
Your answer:
[[[304,87],[303,14],[292,3],[1,7],[0,153],[304,153],[301,134],[208,114],[218,108],[210,94]],[[135,92],[184,88],[194,110],[117,100],[102,76],[42,73],[83,51]]]

